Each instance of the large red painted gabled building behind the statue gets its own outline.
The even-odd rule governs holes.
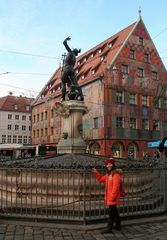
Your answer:
[[[141,17],[77,58],[75,70],[89,112],[81,130],[87,151],[141,159],[147,142],[167,134],[165,66]],[[33,144],[57,144],[61,119],[54,105],[61,95],[61,68],[36,98]],[[157,96],[157,103],[154,103]]]

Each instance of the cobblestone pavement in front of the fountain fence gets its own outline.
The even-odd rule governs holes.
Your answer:
[[[113,230],[113,234],[102,234],[101,230],[63,230],[40,224],[29,225],[18,221],[0,223],[0,240],[167,240],[167,221],[128,225],[121,232]]]

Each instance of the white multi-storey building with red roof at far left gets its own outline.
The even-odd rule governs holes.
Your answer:
[[[0,98],[0,143],[31,143],[31,103],[22,96]]]

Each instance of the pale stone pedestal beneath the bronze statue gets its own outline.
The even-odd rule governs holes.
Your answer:
[[[82,138],[82,116],[87,112],[83,102],[77,100],[57,102],[55,111],[62,117],[61,139],[57,145],[57,153],[83,154],[86,143]]]

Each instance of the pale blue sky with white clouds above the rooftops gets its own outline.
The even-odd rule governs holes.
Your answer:
[[[61,63],[142,19],[167,68],[167,0],[0,0],[0,97],[36,96]]]

